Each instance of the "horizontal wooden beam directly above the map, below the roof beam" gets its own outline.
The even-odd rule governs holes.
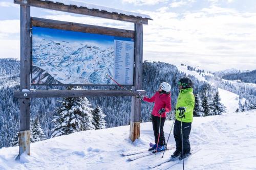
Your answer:
[[[123,30],[109,27],[99,27],[92,25],[85,25],[81,23],[74,22],[65,22],[51,19],[42,19],[31,17],[32,26],[35,27],[44,27],[44,28],[53,28],[67,31],[77,31],[84,33],[93,33],[93,34],[103,34],[127,38],[135,38],[135,31],[133,30]]]

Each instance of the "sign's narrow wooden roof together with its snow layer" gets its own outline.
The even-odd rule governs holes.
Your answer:
[[[153,20],[149,15],[71,0],[14,0],[14,3],[143,24],[147,24],[147,20]]]

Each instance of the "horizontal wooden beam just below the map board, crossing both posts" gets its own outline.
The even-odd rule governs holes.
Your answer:
[[[145,95],[146,91],[132,91],[138,95]],[[15,98],[68,98],[82,96],[132,96],[127,90],[34,90],[34,91],[14,91]]]

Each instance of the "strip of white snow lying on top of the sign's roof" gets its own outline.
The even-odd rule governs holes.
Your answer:
[[[77,7],[86,7],[86,8],[91,9],[91,10],[106,11],[106,12],[110,12],[110,13],[124,14],[124,15],[127,15],[127,16],[142,17],[142,18],[145,18],[145,19],[153,20],[149,15],[144,15],[144,14],[140,14],[140,13],[136,13],[136,12],[123,11],[123,10],[119,10],[119,9],[103,7],[103,6],[99,6],[99,5],[95,5],[95,4],[83,3],[83,2],[79,2],[79,1],[72,1],[72,0],[52,0],[52,1],[40,0],[40,1],[61,3],[61,4],[64,4],[64,5],[68,5],[68,6],[74,5],[74,6],[77,6]]]

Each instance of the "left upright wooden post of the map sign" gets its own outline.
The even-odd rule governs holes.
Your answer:
[[[20,90],[30,90],[30,6],[20,5]],[[19,155],[30,155],[30,99],[20,99]]]

